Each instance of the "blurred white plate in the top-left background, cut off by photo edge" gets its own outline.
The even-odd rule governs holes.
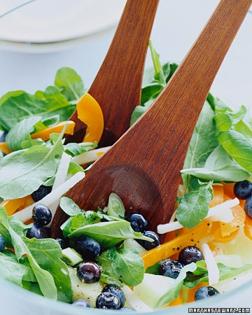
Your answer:
[[[27,0],[0,0],[0,16]],[[108,29],[125,0],[36,0],[0,19],[0,40],[55,43]]]

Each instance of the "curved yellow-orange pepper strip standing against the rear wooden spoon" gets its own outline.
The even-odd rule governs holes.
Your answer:
[[[76,109],[78,119],[87,125],[83,142],[99,142],[104,130],[104,116],[97,101],[86,93],[79,99]]]

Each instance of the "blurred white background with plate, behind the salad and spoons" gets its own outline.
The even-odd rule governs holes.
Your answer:
[[[18,3],[22,1],[0,0],[0,15]],[[162,62],[183,59],[217,3],[160,0],[151,40]],[[43,90],[53,84],[62,66],[75,69],[89,87],[109,49],[124,4],[125,0],[37,0],[0,19],[0,96],[10,90]],[[216,96],[235,105],[252,104],[251,33],[252,15],[248,14],[212,87]],[[59,43],[17,42],[25,36],[31,41],[48,38]],[[146,64],[151,64],[149,54]]]

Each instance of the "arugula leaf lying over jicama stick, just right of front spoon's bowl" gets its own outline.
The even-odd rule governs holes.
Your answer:
[[[207,216],[212,199],[212,181],[200,183],[198,190],[183,195],[176,210],[176,218],[185,228],[193,228]]]

